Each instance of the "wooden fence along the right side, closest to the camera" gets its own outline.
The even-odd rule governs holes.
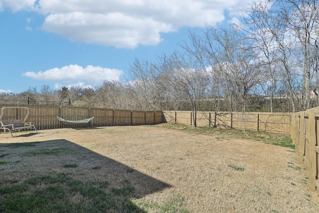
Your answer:
[[[292,114],[291,137],[299,162],[305,162],[309,170],[309,190],[319,189],[319,107]]]

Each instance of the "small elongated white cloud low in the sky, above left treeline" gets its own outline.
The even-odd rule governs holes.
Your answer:
[[[118,80],[122,74],[123,71],[119,69],[92,65],[84,68],[77,64],[71,64],[61,68],[48,69],[44,72],[25,72],[22,75],[36,80],[62,81],[72,84],[83,82],[86,85],[100,85],[103,83],[103,80]]]

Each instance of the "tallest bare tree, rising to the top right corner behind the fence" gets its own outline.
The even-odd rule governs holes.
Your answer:
[[[318,67],[318,3],[318,0],[269,0],[254,2],[246,11],[250,35],[263,41],[259,47],[266,58],[269,56],[269,70],[271,64],[278,68],[269,72],[272,76],[281,74],[294,110],[295,103],[302,110],[311,104],[312,81]]]

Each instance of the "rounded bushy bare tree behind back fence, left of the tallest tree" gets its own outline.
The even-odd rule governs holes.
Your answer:
[[[206,51],[217,75],[224,84],[230,111],[245,111],[250,89],[260,81],[260,71],[251,44],[232,25],[229,28],[208,26]],[[237,100],[242,101],[238,105]]]

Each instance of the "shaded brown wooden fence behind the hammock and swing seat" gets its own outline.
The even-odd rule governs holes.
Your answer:
[[[20,106],[23,107],[23,106]],[[80,108],[70,106],[25,106],[30,110],[27,122],[37,129],[64,127],[56,116],[65,120],[83,120],[94,116],[88,126],[128,126],[152,125],[162,123],[162,111],[132,111],[102,108]],[[2,106],[0,106],[2,108]],[[23,108],[7,108],[3,120],[23,120],[26,112]],[[81,127],[81,124],[66,124],[67,127]]]

